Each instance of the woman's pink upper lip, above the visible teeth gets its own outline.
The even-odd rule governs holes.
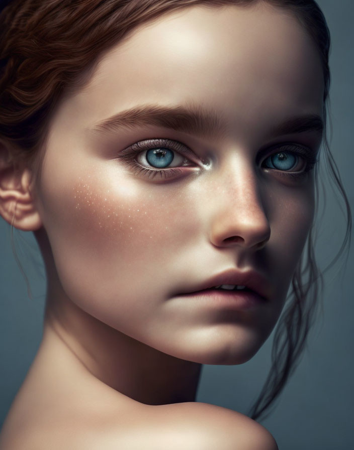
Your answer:
[[[271,286],[266,277],[254,270],[248,270],[241,272],[239,270],[231,269],[225,272],[212,276],[208,280],[202,282],[200,285],[195,286],[185,293],[193,293],[202,291],[204,289],[210,289],[221,284],[235,284],[246,286],[248,289],[256,292],[263,297],[264,300],[269,300],[271,297]]]

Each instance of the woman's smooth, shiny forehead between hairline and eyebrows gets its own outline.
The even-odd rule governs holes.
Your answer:
[[[310,36],[290,12],[259,2],[190,7],[141,25],[102,57],[71,106],[92,124],[141,104],[192,102],[248,130],[260,116],[268,126],[284,115],[321,115],[322,99]]]

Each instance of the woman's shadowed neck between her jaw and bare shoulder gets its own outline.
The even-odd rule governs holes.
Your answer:
[[[88,372],[141,403],[195,401],[201,364],[149,347],[87,314],[68,299],[47,300],[50,327]]]

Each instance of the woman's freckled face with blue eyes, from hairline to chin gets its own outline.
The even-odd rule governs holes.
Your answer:
[[[322,97],[315,45],[268,5],[192,7],[136,29],[50,126],[36,201],[55,295],[166,354],[247,361],[313,219],[321,133],[279,126],[321,117]],[[179,295],[250,270],[267,292],[254,307]]]

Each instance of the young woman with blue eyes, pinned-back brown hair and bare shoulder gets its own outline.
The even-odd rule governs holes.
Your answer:
[[[253,419],[319,280],[317,5],[14,0],[0,20],[0,213],[34,232],[48,283],[0,448],[276,449]],[[290,285],[271,396],[252,418],[195,402],[201,365],[252,358]]]

